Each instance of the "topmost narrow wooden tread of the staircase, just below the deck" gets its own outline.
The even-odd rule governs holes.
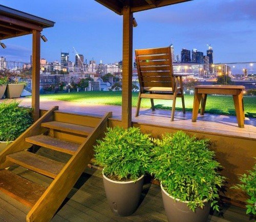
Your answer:
[[[73,132],[73,134],[79,134],[83,136],[89,136],[94,130],[94,127],[90,126],[81,126],[57,121],[42,123],[41,126],[65,132]]]

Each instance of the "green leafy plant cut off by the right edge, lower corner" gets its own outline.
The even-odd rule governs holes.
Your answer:
[[[248,174],[244,173],[239,177],[242,184],[233,186],[232,188],[243,190],[249,196],[246,200],[248,205],[246,205],[246,213],[251,213],[256,215],[256,164],[253,166],[252,170],[248,171]]]

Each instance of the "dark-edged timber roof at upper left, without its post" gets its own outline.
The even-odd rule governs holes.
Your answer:
[[[0,40],[53,26],[53,21],[0,5]]]

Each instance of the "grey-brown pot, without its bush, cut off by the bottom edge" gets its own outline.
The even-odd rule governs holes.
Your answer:
[[[174,199],[162,187],[162,198],[165,213],[168,221],[173,222],[205,222],[208,219],[210,212],[210,202],[205,202],[204,207],[197,208],[195,212],[187,207],[186,201],[182,202],[179,199]]]

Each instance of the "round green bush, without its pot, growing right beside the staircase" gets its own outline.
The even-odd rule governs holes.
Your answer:
[[[97,142],[95,159],[104,167],[105,176],[116,181],[132,181],[145,174],[154,144],[139,128],[108,128],[105,137]]]

